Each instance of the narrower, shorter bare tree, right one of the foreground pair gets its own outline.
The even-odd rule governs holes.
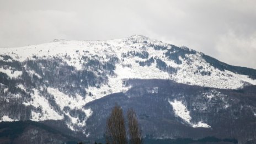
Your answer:
[[[133,109],[129,109],[127,111],[130,144],[142,143],[141,130],[140,127],[138,126],[138,120],[136,117],[136,113]]]

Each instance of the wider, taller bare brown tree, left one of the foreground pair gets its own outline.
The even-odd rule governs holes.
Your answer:
[[[120,106],[115,105],[106,121],[106,142],[126,144],[125,120]]]

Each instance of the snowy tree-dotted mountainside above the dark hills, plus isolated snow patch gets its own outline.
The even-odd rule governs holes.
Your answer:
[[[171,79],[225,89],[256,84],[256,70],[230,66],[187,47],[141,35],[1,48],[0,75],[1,99],[7,105],[0,120],[65,120],[71,130],[83,130],[94,113],[84,108],[88,102],[129,90],[125,79]],[[179,115],[183,112],[175,109],[185,110],[184,105],[170,104],[190,124],[190,115]],[[12,105],[18,106],[15,110],[22,111],[20,115],[8,113]],[[201,121],[191,125],[210,127]]]

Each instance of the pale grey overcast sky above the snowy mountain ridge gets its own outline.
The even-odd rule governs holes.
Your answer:
[[[256,69],[254,0],[0,0],[0,47],[134,34]]]

